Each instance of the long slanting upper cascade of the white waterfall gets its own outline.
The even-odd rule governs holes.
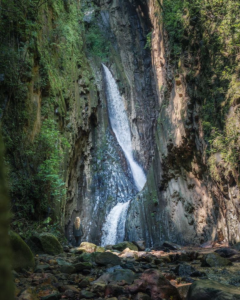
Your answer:
[[[135,185],[141,190],[146,183],[146,176],[143,169],[134,161],[131,141],[131,131],[128,122],[128,116],[124,108],[122,97],[119,93],[118,86],[110,70],[102,64],[105,73],[105,91],[107,95],[107,107],[109,111],[110,124],[113,132],[121,146],[131,167]]]

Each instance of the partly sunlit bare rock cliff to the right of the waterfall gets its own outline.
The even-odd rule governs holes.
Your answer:
[[[239,190],[228,182],[225,189],[213,182],[206,161],[196,97],[204,62],[190,55],[187,45],[184,73],[174,74],[167,34],[159,22],[159,8],[148,2],[152,22],[152,64],[159,91],[160,115],[155,132],[155,155],[145,189],[137,195],[129,210],[126,229],[131,239],[146,239],[152,244],[169,239],[180,244],[206,240],[239,240]],[[192,82],[190,60],[197,71]]]

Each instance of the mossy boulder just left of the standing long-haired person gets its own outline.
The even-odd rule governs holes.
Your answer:
[[[58,239],[50,232],[42,232],[26,240],[34,254],[57,255],[63,253],[63,247]]]

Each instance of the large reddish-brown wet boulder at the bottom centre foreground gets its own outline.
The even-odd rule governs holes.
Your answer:
[[[160,271],[155,269],[149,269],[141,274],[140,278],[135,280],[134,283],[128,286],[128,290],[131,294],[137,292],[148,291],[151,295],[151,299],[177,299],[177,290],[169,280],[167,280]]]

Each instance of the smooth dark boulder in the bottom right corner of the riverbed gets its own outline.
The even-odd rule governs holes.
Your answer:
[[[187,300],[240,300],[240,289],[213,280],[197,280],[191,284]]]

